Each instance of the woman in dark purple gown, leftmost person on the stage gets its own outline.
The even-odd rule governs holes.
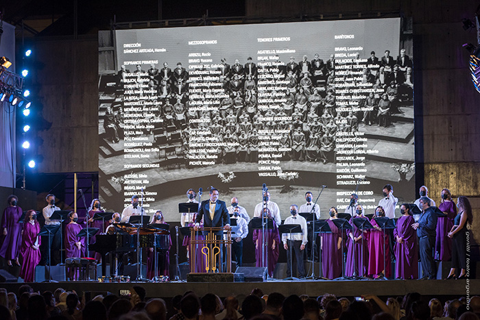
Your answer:
[[[22,208],[16,205],[19,202],[16,195],[10,195],[7,202],[8,207],[3,210],[3,216],[1,217],[0,256],[7,260],[9,266],[12,265],[12,260],[19,266],[19,252],[22,241],[22,225],[19,223],[19,219],[22,216]]]

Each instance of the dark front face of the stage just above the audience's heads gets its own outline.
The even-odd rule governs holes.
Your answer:
[[[8,292],[18,293],[24,283],[3,283],[1,286]],[[182,295],[185,291],[194,291],[202,296],[215,293],[219,297],[228,295],[248,295],[253,288],[261,288],[263,293],[283,293],[283,295],[309,295],[317,297],[324,293],[333,293],[337,297],[355,297],[361,295],[378,295],[379,297],[396,297],[410,292],[418,292],[427,297],[451,299],[480,295],[480,280],[268,280],[267,282],[130,282],[130,283],[99,283],[99,282],[43,282],[29,283],[34,291],[55,291],[64,288],[77,293],[90,292],[91,297],[110,292],[119,295],[121,289],[130,289],[141,285],[147,291],[147,297],[163,297],[169,299]]]

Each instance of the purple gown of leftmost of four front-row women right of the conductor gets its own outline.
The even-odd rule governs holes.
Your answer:
[[[335,279],[341,275],[341,248],[338,249],[339,228],[327,220],[332,233],[322,234],[322,271],[325,278]]]

